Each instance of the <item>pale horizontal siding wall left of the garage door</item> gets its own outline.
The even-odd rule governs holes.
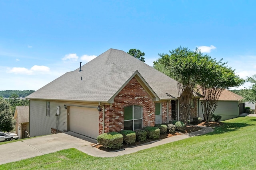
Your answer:
[[[50,116],[46,116],[46,101],[30,100],[30,136],[51,134],[51,128],[56,129],[56,108],[60,106],[59,130],[67,130],[67,111],[64,103],[50,101]]]

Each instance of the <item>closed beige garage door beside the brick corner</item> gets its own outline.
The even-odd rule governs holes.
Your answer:
[[[94,108],[70,106],[70,131],[96,139],[99,135],[99,111]]]

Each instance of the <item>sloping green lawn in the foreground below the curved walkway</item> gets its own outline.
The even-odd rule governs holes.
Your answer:
[[[66,149],[0,165],[0,169],[255,169],[256,119],[238,117],[223,122],[212,133],[124,156],[98,158]]]

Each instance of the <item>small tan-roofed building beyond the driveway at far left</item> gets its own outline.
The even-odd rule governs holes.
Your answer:
[[[16,119],[16,133],[20,139],[26,138],[29,131],[29,106],[16,106],[14,119]]]

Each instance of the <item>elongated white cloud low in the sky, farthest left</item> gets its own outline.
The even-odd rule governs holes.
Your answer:
[[[7,68],[7,72],[14,73],[14,74],[27,74],[27,75],[32,75],[32,74],[36,74],[36,73],[44,74],[46,72],[50,72],[50,68],[47,66],[34,65],[30,69],[25,68],[25,67]]]

